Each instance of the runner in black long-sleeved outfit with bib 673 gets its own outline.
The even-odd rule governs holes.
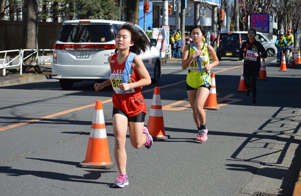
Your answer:
[[[260,42],[255,40],[256,31],[249,29],[248,40],[243,42],[240,48],[239,60],[244,59],[243,62],[243,76],[244,82],[247,86],[246,95],[249,96],[252,88],[252,104],[257,105],[256,100],[256,80],[260,71],[260,58],[266,58],[267,53]],[[260,56],[261,54],[261,56]]]

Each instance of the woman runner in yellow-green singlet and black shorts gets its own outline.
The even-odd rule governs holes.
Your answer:
[[[218,58],[212,46],[203,41],[205,30],[196,25],[191,28],[193,42],[186,44],[183,50],[182,69],[189,68],[186,77],[186,89],[193,119],[198,128],[196,140],[205,142],[208,137],[206,127],[206,113],[204,104],[211,88],[210,69],[218,65]],[[210,57],[213,62],[210,63]]]

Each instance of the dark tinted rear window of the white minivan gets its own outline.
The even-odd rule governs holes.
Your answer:
[[[67,24],[59,35],[61,42],[108,42],[114,39],[110,24]]]

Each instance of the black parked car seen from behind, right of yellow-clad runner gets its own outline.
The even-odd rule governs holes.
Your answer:
[[[241,45],[239,33],[220,33],[217,37],[216,55],[219,60],[222,57],[239,58],[239,48]]]

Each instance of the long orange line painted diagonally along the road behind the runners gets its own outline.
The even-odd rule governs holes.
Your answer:
[[[239,67],[242,67],[242,65],[238,65],[238,66],[230,67],[230,68],[227,68],[227,69],[219,70],[219,71],[216,71],[215,73],[220,73],[220,72],[223,72],[223,71],[228,71],[228,70],[239,68]],[[168,84],[168,85],[165,85],[165,86],[160,86],[160,88],[166,88],[166,87],[169,87],[169,86],[174,86],[174,85],[177,85],[177,84],[183,83],[183,82],[186,82],[186,80],[182,80],[182,81],[175,82],[175,83],[172,83],[172,84]],[[154,88],[148,89],[148,90],[143,90],[142,93],[149,92],[149,91],[154,91]],[[109,102],[112,102],[112,99],[102,101],[103,104],[109,103]],[[68,114],[68,113],[71,113],[71,112],[76,112],[76,111],[83,110],[83,109],[90,108],[90,107],[94,107],[94,106],[95,106],[95,103],[90,104],[90,105],[86,105],[86,106],[82,106],[82,107],[78,107],[78,108],[74,108],[74,109],[70,109],[70,110],[65,110],[65,111],[55,113],[55,114],[52,114],[52,115],[48,115],[48,116],[44,116],[44,117],[41,117],[41,118],[38,118],[38,119],[32,119],[32,120],[25,121],[25,122],[22,122],[22,123],[16,123],[16,124],[13,124],[13,125],[1,127],[0,131],[13,129],[13,128],[20,127],[20,126],[23,126],[23,125],[27,125],[27,124],[30,124],[30,123],[35,123],[35,122],[50,119],[50,118],[53,118],[53,117],[58,117],[58,116],[61,116],[61,115],[64,115],[64,114]]]

